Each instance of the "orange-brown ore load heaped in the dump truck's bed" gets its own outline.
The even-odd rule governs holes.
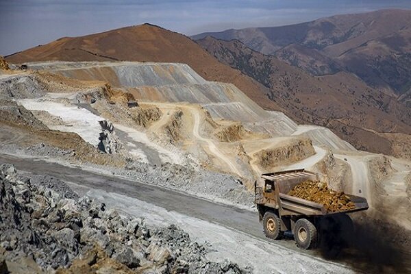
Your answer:
[[[344,192],[330,190],[327,184],[307,180],[297,184],[288,195],[324,205],[328,212],[352,210],[356,205]]]

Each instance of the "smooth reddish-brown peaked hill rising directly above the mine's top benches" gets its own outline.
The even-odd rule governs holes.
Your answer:
[[[64,37],[5,59],[18,64],[46,60],[185,63],[205,79],[235,84],[264,108],[281,109],[277,103],[266,99],[267,88],[256,80],[222,64],[190,38],[150,24]]]

